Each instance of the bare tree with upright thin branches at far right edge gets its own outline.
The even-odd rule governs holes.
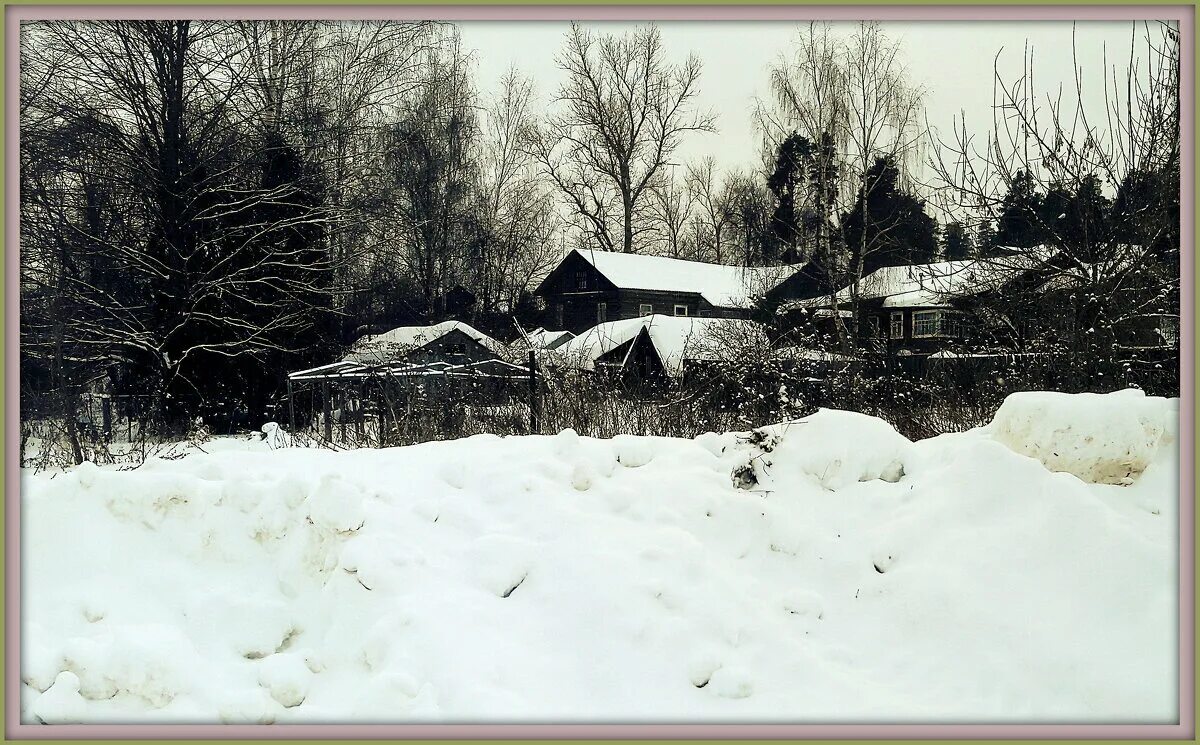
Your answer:
[[[1178,313],[1178,42],[1174,24],[1134,24],[1124,61],[1110,67],[1105,50],[1103,70],[1076,64],[1067,100],[1039,89],[1032,49],[1013,80],[997,54],[991,131],[977,134],[960,119],[952,137],[932,139],[932,169],[956,209],[990,222],[1018,181],[1055,208],[1032,216],[1048,260],[1028,305],[1058,290],[1084,374],[1111,371],[1122,326]],[[1088,84],[1103,107],[1085,103]],[[1020,314],[1018,299],[1013,306]]]

